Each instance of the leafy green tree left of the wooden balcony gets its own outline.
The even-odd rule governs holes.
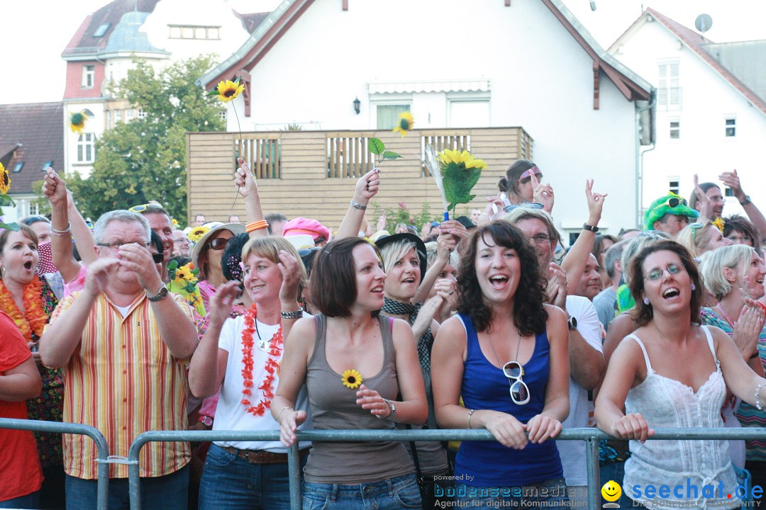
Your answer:
[[[83,216],[157,200],[175,218],[186,218],[186,133],[223,131],[221,103],[195,84],[214,64],[205,55],[155,70],[144,61],[114,90],[146,116],[106,130],[87,179],[67,183]]]

